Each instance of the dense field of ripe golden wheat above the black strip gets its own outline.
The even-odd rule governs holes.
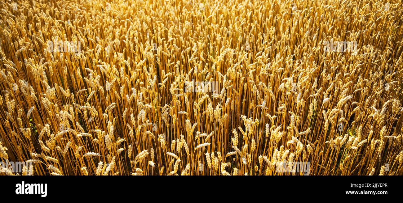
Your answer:
[[[0,174],[402,175],[402,4],[2,1]]]

